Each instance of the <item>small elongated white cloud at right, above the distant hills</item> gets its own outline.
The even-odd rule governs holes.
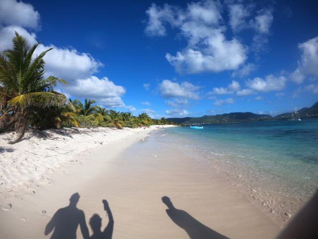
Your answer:
[[[273,75],[268,75],[265,80],[256,77],[253,80],[247,80],[245,84],[251,90],[269,92],[283,90],[285,88],[286,81],[287,78],[284,76],[274,77]]]

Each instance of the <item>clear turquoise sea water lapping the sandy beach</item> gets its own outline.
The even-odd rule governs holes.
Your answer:
[[[305,199],[318,188],[318,119],[170,127],[152,135],[251,188]]]

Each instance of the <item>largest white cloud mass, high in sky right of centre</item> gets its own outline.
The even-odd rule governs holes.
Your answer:
[[[152,4],[147,10],[149,21],[145,32],[163,36],[166,24],[180,31],[188,45],[175,56],[165,55],[179,73],[235,70],[246,60],[247,48],[236,38],[226,39],[221,11],[221,4],[212,0],[189,3],[186,9]]]

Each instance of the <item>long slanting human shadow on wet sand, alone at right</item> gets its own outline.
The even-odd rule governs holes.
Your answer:
[[[191,239],[229,239],[203,225],[187,212],[176,209],[167,196],[161,199],[168,207],[168,209],[165,210],[167,215],[176,225],[182,228]]]

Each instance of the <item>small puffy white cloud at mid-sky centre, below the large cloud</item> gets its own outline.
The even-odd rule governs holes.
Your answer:
[[[163,98],[181,97],[184,99],[199,100],[199,86],[194,86],[189,82],[182,82],[181,84],[163,80],[159,85],[159,90]]]

